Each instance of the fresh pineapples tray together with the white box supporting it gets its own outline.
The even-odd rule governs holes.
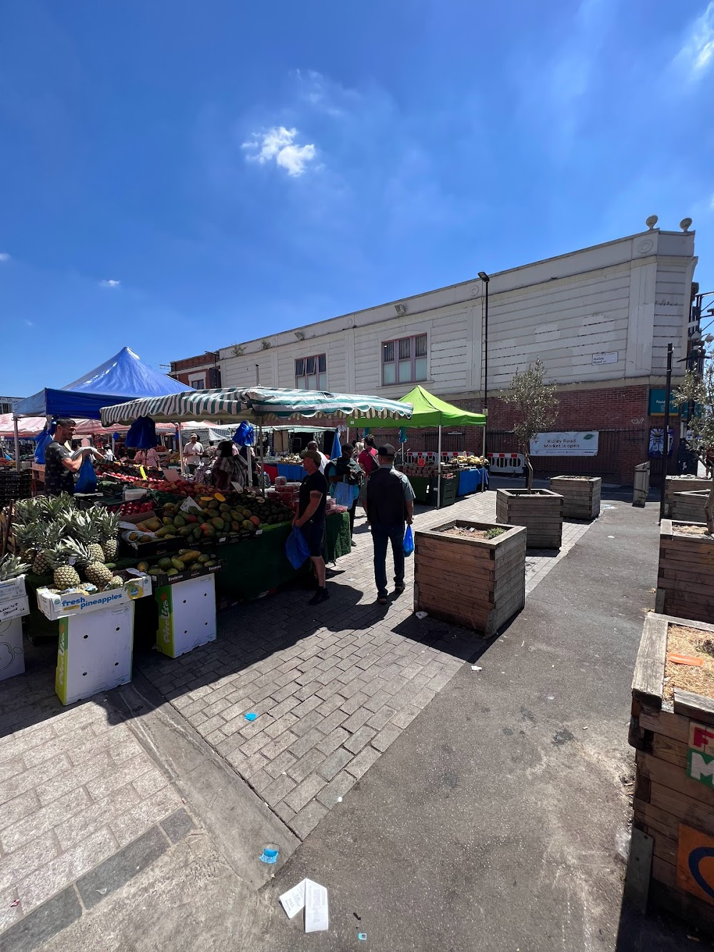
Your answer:
[[[131,680],[134,602],[151,594],[148,575],[128,576],[122,588],[87,594],[37,589],[37,605],[59,622],[55,690],[62,704]]]

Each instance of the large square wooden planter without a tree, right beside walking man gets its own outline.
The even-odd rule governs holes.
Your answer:
[[[495,539],[444,534],[503,528]],[[414,533],[414,609],[492,635],[526,604],[526,529],[457,519]]]

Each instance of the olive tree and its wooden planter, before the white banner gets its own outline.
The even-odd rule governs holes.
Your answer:
[[[530,548],[560,548],[563,538],[563,496],[549,489],[533,489],[530,441],[545,432],[558,417],[555,387],[545,384],[545,366],[538,358],[524,371],[517,370],[510,388],[501,397],[515,407],[513,433],[526,461],[526,488],[499,489],[496,521],[508,526],[526,526]]]

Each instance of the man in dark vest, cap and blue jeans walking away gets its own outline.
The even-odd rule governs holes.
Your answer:
[[[379,469],[367,481],[367,522],[374,543],[374,581],[377,601],[387,605],[387,543],[394,557],[394,594],[404,591],[405,523],[414,517],[414,490],[404,473],[394,468],[396,450],[390,443],[377,450]]]

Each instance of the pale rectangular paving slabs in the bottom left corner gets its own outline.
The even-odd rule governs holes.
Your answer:
[[[50,672],[0,684],[0,933],[182,808],[102,696],[65,708]]]

